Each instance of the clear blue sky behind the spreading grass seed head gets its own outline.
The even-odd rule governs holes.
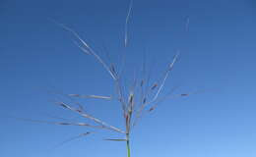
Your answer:
[[[135,0],[129,45],[124,49],[128,4],[128,0],[1,0],[1,157],[126,155],[125,143],[102,140],[119,134],[99,131],[52,150],[61,141],[91,130],[10,118],[50,120],[48,113],[83,121],[54,105],[56,96],[46,90],[113,93],[112,80],[102,67],[79,50],[70,33],[47,18],[78,31],[104,60],[106,49],[117,64],[118,54],[125,51],[127,74],[138,70],[147,54],[153,78],[157,78],[180,50],[162,94],[177,85],[176,93],[209,89],[166,100],[145,116],[132,132],[133,157],[256,156],[256,3]],[[116,103],[82,102],[97,117],[123,127]]]

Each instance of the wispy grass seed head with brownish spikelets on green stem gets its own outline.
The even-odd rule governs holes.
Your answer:
[[[129,44],[129,36],[128,36],[128,24],[129,19],[132,12],[133,1],[130,2],[129,10],[127,17],[125,19],[125,30],[124,30],[124,47],[127,47]],[[123,141],[126,143],[127,148],[127,157],[131,156],[131,148],[130,148],[130,135],[131,131],[134,127],[138,124],[139,120],[142,118],[144,113],[150,113],[154,111],[161,101],[167,98],[173,97],[180,97],[180,96],[188,96],[192,93],[187,94],[166,94],[163,97],[160,97],[160,93],[164,88],[166,79],[170,76],[170,73],[178,59],[179,52],[173,57],[172,61],[166,66],[166,70],[163,75],[160,76],[156,81],[150,81],[150,75],[146,73],[145,65],[143,66],[144,69],[144,76],[142,78],[134,78],[132,84],[129,84],[130,88],[125,90],[123,88],[123,84],[121,81],[122,78],[122,67],[116,66],[114,63],[106,64],[104,60],[96,53],[96,51],[90,46],[88,42],[82,39],[82,37],[73,29],[68,26],[64,26],[60,23],[54,21],[58,26],[63,27],[67,31],[73,34],[75,37],[74,42],[78,45],[78,47],[89,56],[92,56],[96,59],[102,68],[108,73],[108,75],[112,78],[116,94],[115,96],[104,96],[104,95],[83,95],[83,94],[65,94],[65,96],[69,98],[93,98],[93,99],[103,99],[103,100],[112,100],[115,99],[119,102],[122,118],[125,123],[124,129],[119,129],[115,126],[112,126],[103,120],[96,118],[95,116],[88,113],[82,104],[75,102],[73,105],[68,104],[62,101],[55,102],[56,105],[59,107],[70,110],[81,117],[90,120],[94,125],[81,123],[81,122],[66,122],[66,119],[61,118],[61,122],[48,122],[48,121],[37,121],[37,120],[30,120],[32,122],[37,123],[46,123],[46,124],[53,124],[53,125],[61,125],[61,126],[81,126],[81,127],[88,127],[93,128],[95,130],[105,130],[105,131],[114,131],[116,133],[120,133],[124,135],[124,138],[106,138],[105,140],[110,141]],[[127,85],[127,84],[126,84]],[[127,85],[128,86],[128,85]],[[73,140],[75,138],[83,137],[92,133],[91,131],[84,132],[79,134],[78,136],[72,137],[64,142]]]

